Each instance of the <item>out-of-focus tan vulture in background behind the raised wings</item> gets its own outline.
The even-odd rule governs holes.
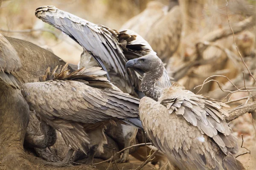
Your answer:
[[[177,0],[169,7],[150,1],[140,14],[128,20],[120,30],[131,29],[151,45],[157,56],[166,64],[180,44],[182,14]]]

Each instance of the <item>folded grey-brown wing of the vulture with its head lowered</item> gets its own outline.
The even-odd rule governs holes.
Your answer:
[[[22,87],[22,94],[29,106],[47,119],[61,118],[92,124],[110,119],[127,123],[131,122],[128,118],[139,117],[139,99],[77,81],[26,83]]]

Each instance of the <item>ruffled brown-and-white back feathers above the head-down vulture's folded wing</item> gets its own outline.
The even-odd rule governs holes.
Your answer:
[[[59,67],[58,65],[50,71],[48,67],[45,71],[45,74],[39,77],[40,82],[45,82],[49,80],[74,80],[82,82],[86,85],[95,88],[109,88],[116,91],[121,91],[115,85],[113,85],[106,77],[103,75],[107,74],[106,71],[103,71],[100,67],[92,67],[92,68],[80,68],[76,71],[70,72],[67,70],[68,63],[66,63],[63,67],[62,65]]]

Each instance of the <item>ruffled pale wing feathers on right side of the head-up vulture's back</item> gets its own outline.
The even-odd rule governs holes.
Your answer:
[[[182,99],[181,105],[180,99]],[[228,152],[237,153],[236,139],[222,116],[226,112],[222,107],[227,105],[177,87],[166,90],[160,97],[159,102],[169,112],[183,116],[187,122],[196,126],[202,134],[212,138],[224,154],[227,155]]]

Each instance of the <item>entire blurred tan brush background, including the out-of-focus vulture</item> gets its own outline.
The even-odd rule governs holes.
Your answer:
[[[256,0],[3,0],[1,34],[33,42],[77,64],[82,48],[35,17],[35,9],[44,5],[118,31],[136,31],[166,64],[169,76],[188,90],[197,93],[201,86],[195,87],[208,78],[199,94],[231,108],[254,101],[256,81],[247,68],[255,77]],[[245,92],[247,88],[253,91]],[[254,126],[251,114],[230,123],[239,144],[243,134],[244,146],[251,151],[238,157],[249,169],[256,166]]]

